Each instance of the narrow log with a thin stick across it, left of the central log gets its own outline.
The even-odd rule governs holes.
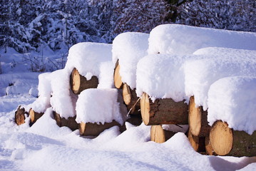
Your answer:
[[[135,88],[133,90],[130,89],[127,83],[123,84],[123,101],[126,104],[128,110],[130,110],[130,114],[137,115],[140,114],[140,100],[137,97],[135,92]]]

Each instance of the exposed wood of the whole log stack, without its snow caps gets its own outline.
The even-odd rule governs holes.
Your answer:
[[[126,104],[130,114],[130,123],[140,125],[143,120],[145,125],[152,125],[150,136],[155,142],[165,142],[175,133],[163,130],[163,124],[189,125],[188,140],[197,152],[208,155],[232,155],[232,156],[256,156],[256,131],[248,135],[244,131],[228,128],[227,123],[217,120],[212,127],[208,125],[208,111],[202,106],[195,105],[195,98],[190,98],[187,105],[185,100],[175,102],[170,98],[150,100],[146,93],[138,98],[135,89],[131,89],[127,83],[121,81],[120,65],[118,61],[114,70],[114,84],[116,88],[123,90],[123,102]],[[71,89],[78,95],[87,88],[97,88],[98,78],[93,76],[86,80],[76,68],[71,73]],[[139,103],[140,101],[140,103]],[[19,106],[15,113],[15,122],[20,125],[25,120],[25,110]],[[29,111],[31,123],[35,123],[43,113],[36,113],[33,109]],[[71,130],[79,128],[81,135],[99,135],[103,130],[119,125],[115,120],[112,123],[76,123],[75,118],[61,118],[54,113],[54,118],[59,126],[68,126]]]

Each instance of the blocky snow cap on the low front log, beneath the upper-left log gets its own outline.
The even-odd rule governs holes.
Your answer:
[[[77,123],[111,123],[123,125],[126,116],[121,115],[116,88],[89,88],[78,95],[76,102]]]

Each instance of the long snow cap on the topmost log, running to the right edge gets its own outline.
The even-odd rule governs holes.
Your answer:
[[[192,54],[199,48],[213,46],[256,50],[256,33],[180,24],[156,26],[148,41],[148,54]]]

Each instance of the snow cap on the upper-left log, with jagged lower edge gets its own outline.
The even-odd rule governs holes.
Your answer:
[[[65,68],[69,73],[76,68],[87,80],[90,80],[92,76],[99,77],[101,63],[112,59],[111,50],[112,45],[107,43],[77,43],[68,51]]]

